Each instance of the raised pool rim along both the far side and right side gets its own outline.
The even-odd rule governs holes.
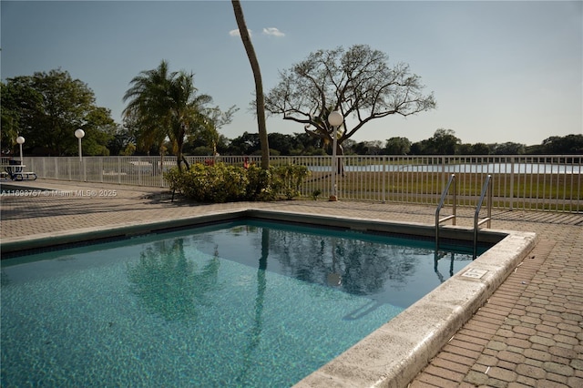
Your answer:
[[[146,233],[191,228],[242,218],[413,235],[426,239],[435,236],[435,227],[425,224],[241,209],[218,211],[179,220],[120,225],[107,230],[87,228],[75,232],[49,232],[32,238],[4,239],[0,249],[2,257],[6,258],[35,250],[59,249],[71,244],[87,244],[97,240],[126,239]],[[445,240],[463,240],[471,243],[474,232],[460,227],[445,226],[440,229],[440,236]],[[510,272],[527,257],[528,252],[535,246],[536,235],[509,230],[481,230],[478,241],[495,245],[469,263],[463,271],[442,283],[348,351],[306,376],[296,386],[406,386],[486,302]]]

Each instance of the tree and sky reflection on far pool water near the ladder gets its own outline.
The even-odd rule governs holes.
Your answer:
[[[265,237],[263,230],[268,228]],[[210,239],[195,235],[193,240],[199,250],[210,253],[216,246],[221,258],[255,268],[257,261],[246,258],[253,257],[254,251],[269,249],[270,271],[403,307],[471,261],[471,254],[451,250],[439,252],[448,259],[436,260],[433,241],[281,225],[274,228],[256,221],[214,233]]]

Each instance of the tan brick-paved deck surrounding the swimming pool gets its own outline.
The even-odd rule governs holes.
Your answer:
[[[426,206],[323,199],[199,205],[171,202],[169,193],[161,188],[47,179],[17,184],[31,191],[3,193],[0,198],[2,242],[26,243],[78,230],[104,230],[251,206],[435,222],[435,208]],[[458,209],[457,225],[471,228],[473,209]],[[583,387],[583,214],[495,209],[492,229],[535,232],[537,244],[409,386]],[[343,384],[331,382],[331,386]]]

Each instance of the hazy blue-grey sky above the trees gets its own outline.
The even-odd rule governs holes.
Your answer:
[[[365,44],[420,76],[437,107],[371,121],[355,141],[540,144],[583,134],[582,1],[241,1],[264,91],[319,49]],[[0,2],[2,81],[60,68],[121,123],[129,82],[164,59],[226,110],[227,138],[257,132],[254,82],[230,1]],[[301,124],[268,117],[268,132]]]

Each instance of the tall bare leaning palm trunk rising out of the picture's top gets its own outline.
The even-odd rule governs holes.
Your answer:
[[[257,56],[255,55],[255,49],[251,43],[251,36],[249,36],[249,30],[245,23],[240,1],[231,0],[231,3],[233,5],[235,19],[237,20],[237,26],[239,27],[240,38],[243,41],[243,46],[245,46],[245,52],[249,57],[251,70],[253,70],[253,77],[255,78],[255,106],[257,109],[257,126],[259,128],[259,139],[261,143],[261,168],[267,169],[270,167],[270,146],[267,139],[267,127],[265,125],[265,102],[263,97],[263,82],[261,81],[261,69]]]

